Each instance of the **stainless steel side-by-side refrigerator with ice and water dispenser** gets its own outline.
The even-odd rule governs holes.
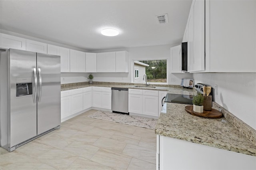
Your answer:
[[[60,128],[60,56],[0,52],[0,146],[8,151]]]

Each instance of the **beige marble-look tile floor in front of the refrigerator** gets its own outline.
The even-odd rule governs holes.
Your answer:
[[[155,170],[154,130],[88,118],[90,110],[13,152],[0,148],[0,169]]]

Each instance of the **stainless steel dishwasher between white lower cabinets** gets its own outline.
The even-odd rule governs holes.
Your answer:
[[[112,87],[111,96],[111,110],[113,113],[125,113],[128,112],[128,89]]]

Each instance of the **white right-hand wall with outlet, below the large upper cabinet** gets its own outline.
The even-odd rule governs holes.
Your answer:
[[[195,83],[218,85],[215,101],[256,129],[256,73],[193,73]],[[216,89],[215,89],[216,90]]]

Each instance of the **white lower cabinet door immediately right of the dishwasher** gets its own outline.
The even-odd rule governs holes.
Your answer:
[[[128,109],[130,113],[142,114],[142,95],[128,95]]]

